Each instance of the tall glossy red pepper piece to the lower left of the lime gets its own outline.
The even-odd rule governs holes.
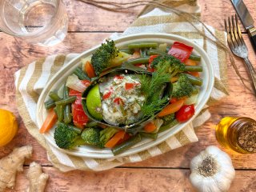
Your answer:
[[[89,118],[82,109],[82,97],[77,95],[77,99],[72,104],[72,115],[75,126],[82,128],[88,122]]]

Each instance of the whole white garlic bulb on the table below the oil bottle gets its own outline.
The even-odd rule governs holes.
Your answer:
[[[234,179],[231,159],[216,146],[208,146],[190,162],[190,182],[202,192],[223,192]]]

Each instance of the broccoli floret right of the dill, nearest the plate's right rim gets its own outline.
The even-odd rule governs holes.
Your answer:
[[[173,98],[190,97],[194,91],[194,86],[187,78],[186,74],[179,74],[178,82],[173,83]]]

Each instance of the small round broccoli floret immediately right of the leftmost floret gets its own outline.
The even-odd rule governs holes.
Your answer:
[[[81,138],[86,142],[86,144],[91,146],[97,146],[99,142],[99,132],[98,127],[86,128],[82,131]]]

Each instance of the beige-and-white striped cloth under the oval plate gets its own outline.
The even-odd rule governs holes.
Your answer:
[[[186,9],[190,13],[196,12],[196,15],[200,15],[200,9],[197,6],[196,1],[176,0],[169,2],[169,4],[174,6],[175,9]],[[226,54],[213,42],[207,41],[206,38],[203,38],[197,33],[194,26],[205,31],[202,24],[194,21],[194,26],[191,26],[190,23],[182,20],[182,18],[179,18],[176,14],[158,8],[146,7],[144,12],[146,14],[142,14],[136,21],[134,21],[133,25],[130,26],[122,36],[143,32],[162,32],[179,34],[183,37],[190,38],[208,52],[214,65],[216,83],[214,84],[214,90],[207,106],[226,96],[226,94],[228,94],[226,89]],[[210,27],[210,30],[216,34],[218,38],[221,38],[223,42],[226,42],[226,35],[224,32],[214,30],[212,27]],[[210,34],[207,34],[206,32],[205,34],[210,37]],[[117,36],[119,36],[119,34],[113,34],[111,38],[114,39]],[[62,69],[62,66],[66,65],[66,63],[75,56],[77,56],[77,54],[52,55],[47,58],[42,58],[37,62],[30,63],[30,65],[22,68],[22,70],[19,70],[15,74],[16,98],[19,114],[26,125],[26,129],[37,139],[40,145],[46,149],[48,159],[59,170],[108,170],[128,162],[140,162],[147,158],[185,146],[188,143],[198,141],[198,138],[194,133],[194,127],[202,126],[202,124],[210,118],[207,106],[205,106],[198,117],[194,119],[193,123],[190,123],[183,130],[166,139],[165,142],[158,144],[158,146],[151,147],[148,150],[141,151],[138,154],[132,154],[123,158],[79,158],[62,153],[62,151],[54,148],[54,146],[50,146],[43,135],[39,134],[38,127],[36,126],[36,103],[46,82],[48,82],[58,70]]]

